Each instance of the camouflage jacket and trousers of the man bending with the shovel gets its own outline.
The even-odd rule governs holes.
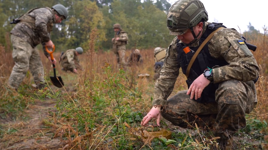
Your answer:
[[[17,23],[10,32],[13,45],[12,57],[15,65],[9,77],[9,84],[17,89],[27,70],[30,69],[34,82],[38,82],[37,88],[41,89],[44,86],[42,84],[44,78],[39,74],[44,75],[44,69],[36,46],[41,41],[50,41],[50,31],[52,31],[53,23],[55,23],[55,15],[50,8],[44,7],[29,10],[20,19],[27,22]],[[49,56],[46,50],[44,50],[44,53],[47,57]]]

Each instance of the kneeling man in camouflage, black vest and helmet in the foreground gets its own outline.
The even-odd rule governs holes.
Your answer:
[[[141,125],[155,118],[159,126],[160,116],[183,128],[196,123],[220,137],[220,149],[236,149],[232,136],[246,127],[245,114],[257,104],[254,83],[260,68],[236,30],[207,21],[199,0],[179,0],[170,7],[166,23],[176,37],[155,83],[153,106]],[[180,68],[188,90],[167,100]]]

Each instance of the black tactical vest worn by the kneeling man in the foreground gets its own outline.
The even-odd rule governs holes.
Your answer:
[[[204,32],[204,34],[201,36],[199,40],[199,45],[202,44],[202,42],[207,38],[207,36],[209,36],[210,33],[212,33],[214,30],[216,30],[219,27],[226,28],[224,25],[222,25],[222,23],[211,23],[210,25],[208,25],[206,31]],[[199,77],[201,74],[204,73],[204,70],[207,69],[207,67],[212,68],[213,66],[229,65],[229,63],[226,62],[225,60],[219,60],[219,59],[211,57],[209,53],[208,44],[209,42],[207,42],[207,44],[203,47],[203,49],[200,51],[195,61],[193,62],[193,65],[190,69],[189,77],[186,80],[188,89],[190,85],[193,83],[193,81],[197,77]],[[187,66],[194,54],[192,51],[196,52],[199,46],[190,47],[192,51],[188,52],[187,54],[185,54],[185,52],[183,51],[184,44],[179,43],[179,40],[177,40],[176,46],[177,46],[176,49],[178,52],[178,58],[177,58],[178,62],[180,63],[183,74],[186,74]],[[198,98],[196,101],[201,102],[201,103],[214,102],[215,91],[218,89],[218,87],[219,87],[219,83],[217,84],[210,83],[208,86],[206,86],[206,88],[204,88],[201,94],[201,97]]]

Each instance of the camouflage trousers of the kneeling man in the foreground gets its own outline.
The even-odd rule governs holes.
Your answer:
[[[163,106],[161,115],[172,124],[183,127],[213,129],[214,136],[228,139],[237,130],[246,126],[245,113],[250,113],[257,104],[253,81],[227,80],[219,84],[215,102],[198,103],[186,94],[178,92]]]

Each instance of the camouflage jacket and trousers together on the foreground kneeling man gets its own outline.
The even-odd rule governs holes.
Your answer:
[[[205,22],[204,31],[207,25],[208,22]],[[189,47],[199,46],[199,40],[190,43]],[[176,49],[177,37],[174,38],[156,81],[153,101],[153,105],[162,106],[161,115],[165,119],[184,128],[192,127],[194,123],[202,128],[208,126],[221,139],[227,139],[228,133],[245,127],[245,113],[250,113],[257,104],[252,80],[258,77],[260,69],[250,50],[237,40],[241,40],[237,31],[224,28],[217,31],[208,42],[211,57],[219,61],[225,60],[229,65],[213,68],[213,84],[219,84],[215,91],[215,101],[197,102],[190,99],[187,90],[180,91],[167,100],[181,68]]]

